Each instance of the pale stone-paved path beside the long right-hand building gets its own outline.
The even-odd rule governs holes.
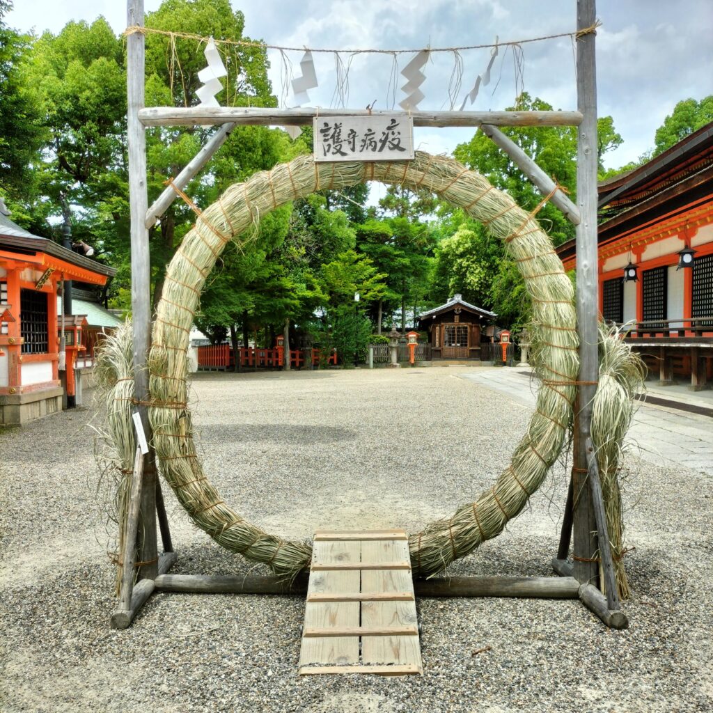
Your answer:
[[[531,369],[484,367],[461,374],[481,386],[505,394],[526,406],[535,405],[538,382]],[[713,418],[672,408],[672,401],[713,409],[713,391],[687,391],[683,386],[662,388],[647,383],[656,403],[643,401],[634,416],[628,441],[639,449],[642,460],[655,465],[684,466],[713,475]]]

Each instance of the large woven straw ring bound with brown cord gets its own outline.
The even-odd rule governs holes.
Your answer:
[[[410,536],[414,574],[435,575],[501,533],[542,484],[570,428],[579,369],[572,283],[534,213],[518,207],[486,178],[450,158],[417,152],[414,160],[397,163],[320,164],[301,156],[233,185],[198,216],[168,265],[148,360],[153,445],[161,474],[198,527],[223,547],[288,577],[309,565],[311,547],[247,523],[202,471],[188,408],[190,327],[205,279],[227,242],[240,247],[257,240],[257,221],[285,202],[370,180],[426,188],[462,207],[503,240],[533,300],[533,346],[542,386],[528,429],[508,466],[476,502]],[[120,336],[125,339],[125,333]]]

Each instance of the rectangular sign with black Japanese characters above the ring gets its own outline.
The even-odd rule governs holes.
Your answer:
[[[315,161],[399,161],[414,158],[414,120],[406,114],[316,116]]]

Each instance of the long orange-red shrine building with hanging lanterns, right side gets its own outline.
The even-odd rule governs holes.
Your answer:
[[[599,309],[662,384],[713,378],[713,123],[599,185]],[[575,241],[557,249],[575,268]]]

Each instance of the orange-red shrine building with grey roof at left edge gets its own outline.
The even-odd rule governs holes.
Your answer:
[[[101,329],[119,322],[98,304],[82,309],[88,299],[73,301],[81,314],[62,314],[58,300],[66,281],[79,283],[83,292],[74,292],[86,298],[87,289],[105,285],[116,270],[32,235],[8,216],[0,200],[0,425],[73,405]]]

